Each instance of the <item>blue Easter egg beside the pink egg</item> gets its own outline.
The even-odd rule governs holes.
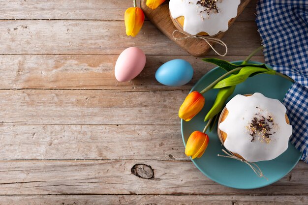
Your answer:
[[[162,64],[155,73],[156,80],[165,86],[183,86],[192,79],[193,69],[189,62],[174,59]]]

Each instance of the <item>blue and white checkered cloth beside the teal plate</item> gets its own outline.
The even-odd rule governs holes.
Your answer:
[[[293,126],[290,142],[308,163],[308,0],[259,0],[256,11],[266,63],[296,81],[283,104]]]

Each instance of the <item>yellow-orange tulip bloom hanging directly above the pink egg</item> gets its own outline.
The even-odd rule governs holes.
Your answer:
[[[124,14],[126,34],[136,36],[144,22],[144,13],[139,7],[129,7]]]

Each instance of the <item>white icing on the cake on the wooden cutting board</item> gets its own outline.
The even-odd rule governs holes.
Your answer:
[[[172,18],[184,16],[184,31],[196,35],[199,32],[207,32],[215,35],[219,31],[228,29],[230,19],[237,16],[237,8],[241,0],[218,0],[216,7],[218,13],[203,12],[204,6],[197,4],[198,0],[170,0],[169,9]],[[190,3],[189,3],[190,2]],[[202,12],[200,12],[202,11]]]

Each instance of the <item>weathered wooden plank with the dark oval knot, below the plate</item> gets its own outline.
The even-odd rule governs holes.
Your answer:
[[[154,177],[133,175],[136,164],[151,166]],[[300,162],[273,185],[240,190],[208,179],[191,161],[0,161],[0,194],[308,195],[307,169]]]

